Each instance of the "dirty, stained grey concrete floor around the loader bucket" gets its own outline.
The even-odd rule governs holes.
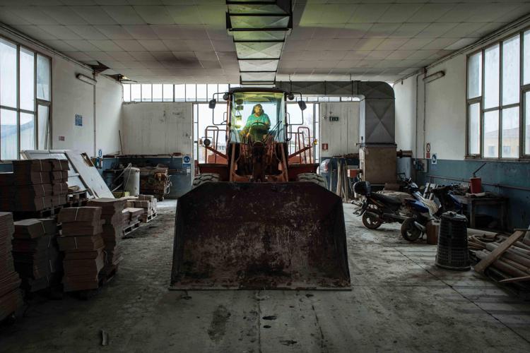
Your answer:
[[[435,268],[435,246],[408,244],[396,225],[365,229],[352,211],[351,291],[172,292],[175,201],[165,201],[123,241],[97,297],[33,299],[0,327],[0,352],[530,352],[530,302]]]

